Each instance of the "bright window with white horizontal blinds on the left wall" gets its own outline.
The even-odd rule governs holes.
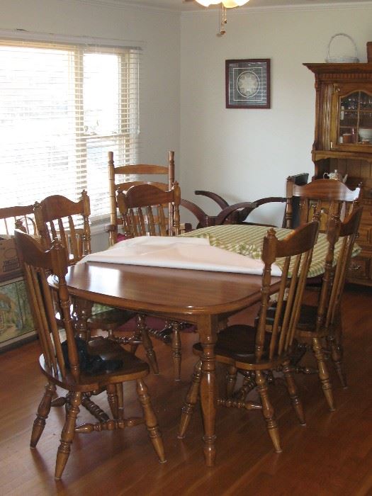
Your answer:
[[[86,189],[109,213],[107,152],[137,162],[140,50],[0,40],[0,207]]]

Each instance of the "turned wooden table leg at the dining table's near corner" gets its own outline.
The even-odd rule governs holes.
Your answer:
[[[203,346],[201,366],[201,411],[204,424],[204,456],[208,467],[215,464],[215,413],[217,387],[215,380],[215,342],[218,319],[203,315],[198,319],[198,332]]]

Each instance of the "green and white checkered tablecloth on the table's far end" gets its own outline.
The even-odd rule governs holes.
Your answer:
[[[254,259],[260,259],[263,239],[268,230],[269,227],[262,225],[216,225],[186,232],[181,236],[206,237],[213,247],[227,249],[230,252],[247,255]],[[291,232],[290,229],[283,229],[282,227],[275,227],[275,231],[278,239],[283,239]],[[337,261],[341,244],[342,240],[340,239],[334,247],[334,261]],[[309,277],[323,274],[327,247],[327,237],[325,234],[320,233],[314,252],[312,253]],[[354,245],[353,257],[359,254],[359,252],[361,252],[361,249],[357,245]],[[283,261],[278,259],[276,264],[281,267]]]

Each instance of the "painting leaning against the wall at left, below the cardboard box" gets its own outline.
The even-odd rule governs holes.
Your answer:
[[[0,284],[0,351],[35,336],[23,278]]]

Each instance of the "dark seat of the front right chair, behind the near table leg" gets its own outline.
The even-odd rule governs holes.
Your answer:
[[[218,333],[218,339],[215,344],[216,356],[225,357],[234,361],[244,363],[256,363],[254,357],[254,340],[256,329],[249,325],[232,325]],[[264,348],[268,348],[270,334],[266,333]],[[203,353],[201,343],[193,345],[193,351],[197,355]],[[268,356],[263,356],[261,361],[266,361]]]

